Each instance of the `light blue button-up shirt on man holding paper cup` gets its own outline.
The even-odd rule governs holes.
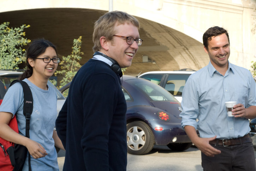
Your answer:
[[[182,92],[181,126],[198,129],[200,137],[232,139],[250,132],[249,120],[228,117],[225,102],[236,101],[248,108],[256,105],[256,85],[248,69],[228,62],[225,75],[212,63],[192,74]],[[199,121],[197,122],[196,119]]]

